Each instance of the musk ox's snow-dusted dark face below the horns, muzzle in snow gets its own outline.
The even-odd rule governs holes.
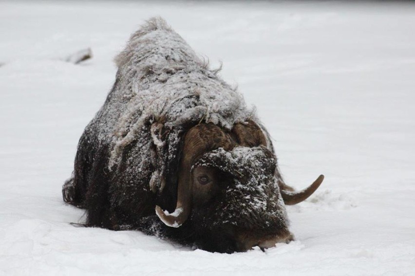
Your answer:
[[[264,146],[219,148],[204,154],[191,172],[190,219],[209,242],[196,243],[210,251],[233,252],[289,241],[275,169],[276,158]]]

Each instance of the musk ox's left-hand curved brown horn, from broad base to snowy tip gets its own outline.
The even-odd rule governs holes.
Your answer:
[[[167,226],[179,227],[189,217],[191,210],[191,167],[204,153],[223,147],[231,149],[234,142],[221,128],[209,123],[197,125],[186,133],[179,165],[177,203],[173,213],[156,206],[157,216]]]

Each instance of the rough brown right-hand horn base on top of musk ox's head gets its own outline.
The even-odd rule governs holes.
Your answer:
[[[252,121],[235,124],[232,133],[238,145],[243,147],[267,147],[266,138],[261,128]]]

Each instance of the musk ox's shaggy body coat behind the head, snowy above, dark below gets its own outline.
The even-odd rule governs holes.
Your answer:
[[[89,226],[140,229],[191,243],[189,237],[197,236],[191,222],[179,227],[177,234],[179,230],[154,215],[156,204],[174,211],[184,133],[200,123],[226,130],[247,120],[260,123],[242,95],[161,18],[151,18],[132,34],[115,62],[115,83],[80,138],[73,177],[63,187],[64,200],[87,210]],[[272,150],[269,139],[267,144]],[[206,164],[208,160],[204,159]],[[274,194],[272,208],[279,210],[277,220],[286,229],[285,208],[275,184],[279,180],[267,180],[273,185],[267,192]],[[260,203],[254,207],[266,210]],[[232,208],[228,216],[236,211]]]

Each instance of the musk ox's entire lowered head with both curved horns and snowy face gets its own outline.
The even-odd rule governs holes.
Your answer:
[[[251,121],[230,131],[199,124],[184,137],[176,209],[156,206],[156,214],[171,227],[191,223],[194,242],[204,250],[264,249],[293,239],[284,202],[305,200],[321,182],[322,176],[301,192],[280,190],[277,158]]]

